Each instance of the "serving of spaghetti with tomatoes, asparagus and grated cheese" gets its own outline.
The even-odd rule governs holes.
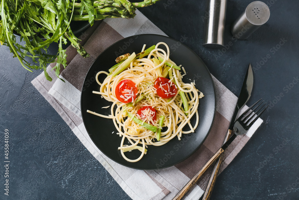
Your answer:
[[[167,52],[159,48],[160,45],[166,46]],[[96,75],[101,87],[100,91],[93,93],[113,102],[112,114],[87,112],[113,120],[122,137],[118,149],[129,162],[140,160],[147,152],[146,145],[161,146],[174,137],[181,140],[182,134],[194,132],[199,123],[197,108],[199,98],[204,95],[195,88],[195,83],[182,81],[184,75],[180,73],[180,66],[176,66],[169,55],[167,44],[159,42],[147,55],[133,59],[127,67],[120,64],[118,69],[125,68],[119,74],[112,70],[110,73],[100,71]],[[183,71],[185,73],[184,68]],[[107,75],[102,83],[98,80],[100,74]],[[194,125],[190,123],[193,116],[196,118]],[[183,131],[186,126],[190,130]],[[130,145],[124,145],[125,139]],[[124,152],[134,149],[141,151],[141,155],[131,160]]]

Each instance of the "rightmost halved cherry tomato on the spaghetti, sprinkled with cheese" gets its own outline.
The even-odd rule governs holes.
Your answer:
[[[156,79],[154,87],[156,88],[159,97],[162,98],[174,97],[178,92],[176,85],[169,79],[163,77]]]

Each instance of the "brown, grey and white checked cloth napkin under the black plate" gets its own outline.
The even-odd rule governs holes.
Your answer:
[[[95,58],[111,44],[136,34],[166,35],[138,10],[136,13],[134,19],[105,19],[101,23],[95,23],[82,34],[81,43],[91,55],[89,58],[81,57],[73,47],[68,47],[68,66],[60,75],[65,82],[55,78],[54,71],[51,71],[54,63],[47,68],[49,75],[53,78],[52,82],[47,81],[42,73],[32,81],[32,84],[60,114],[86,149],[106,168],[132,199],[172,199],[222,145],[237,97],[213,77],[217,108],[212,130],[198,151],[175,166],[143,171],[122,166],[106,157],[91,141],[83,125],[80,113],[81,88]],[[248,108],[245,107],[243,111]],[[246,135],[238,136],[227,148],[220,172],[234,159],[262,122],[262,119],[258,119]],[[185,199],[199,199],[204,193],[209,177],[209,174],[206,174]]]

